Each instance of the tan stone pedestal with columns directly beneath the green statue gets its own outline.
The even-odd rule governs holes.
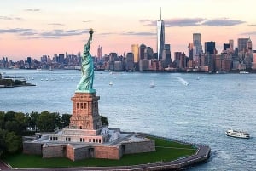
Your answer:
[[[102,128],[102,121],[98,111],[99,96],[96,93],[75,93],[73,101],[73,114],[70,118],[69,128],[98,130]]]

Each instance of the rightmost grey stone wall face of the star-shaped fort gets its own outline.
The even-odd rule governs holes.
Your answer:
[[[154,140],[124,142],[122,143],[122,151],[123,154],[151,152],[155,151],[155,143]]]

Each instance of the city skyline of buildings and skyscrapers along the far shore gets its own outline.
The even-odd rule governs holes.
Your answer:
[[[147,46],[146,43],[131,44],[131,52],[117,54],[111,52],[104,54],[102,47],[98,46],[94,59],[96,70],[101,71],[201,71],[214,73],[216,71],[244,71],[256,70],[255,52],[251,38],[238,38],[237,47],[234,40],[224,43],[221,53],[218,54],[216,43],[206,41],[204,51],[201,43],[201,33],[193,33],[193,43],[189,43],[188,54],[184,52],[171,53],[171,45],[165,43],[165,23],[156,21],[157,49]],[[43,55],[41,60],[26,60],[13,62],[3,57],[0,68],[26,68],[26,69],[79,69],[81,54],[54,54]],[[255,71],[256,72],[256,71]]]

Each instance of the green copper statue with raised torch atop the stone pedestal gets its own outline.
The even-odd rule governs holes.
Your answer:
[[[89,31],[89,39],[86,44],[84,44],[84,53],[82,55],[82,66],[81,72],[82,77],[80,82],[77,86],[76,92],[85,92],[85,93],[95,93],[96,90],[92,88],[93,85],[93,78],[94,78],[94,66],[93,60],[90,55],[90,42],[92,40],[93,30],[90,29]]]

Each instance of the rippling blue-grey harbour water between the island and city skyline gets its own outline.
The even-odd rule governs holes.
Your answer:
[[[0,72],[37,85],[0,88],[1,111],[72,113],[70,98],[80,71]],[[256,170],[255,85],[256,74],[100,71],[94,82],[100,114],[108,117],[111,128],[209,145],[208,162],[189,170]],[[227,137],[228,128],[247,130],[252,138]]]

